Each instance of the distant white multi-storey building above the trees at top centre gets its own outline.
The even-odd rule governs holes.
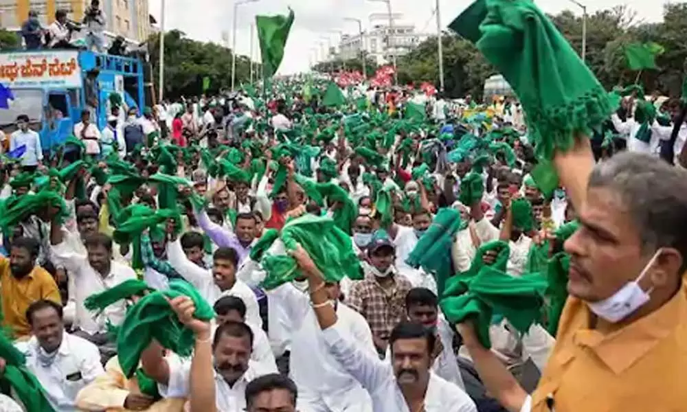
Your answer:
[[[391,62],[392,56],[403,56],[413,47],[427,40],[431,34],[418,33],[415,26],[403,22],[402,14],[392,14],[393,29],[388,14],[370,14],[370,30],[361,34],[344,34],[339,43],[337,58],[359,58],[361,51],[377,65]]]

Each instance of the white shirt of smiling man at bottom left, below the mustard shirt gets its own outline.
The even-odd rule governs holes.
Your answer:
[[[64,332],[58,354],[50,366],[43,366],[38,358],[43,349],[35,336],[16,343],[26,356],[26,367],[45,389],[45,398],[56,412],[73,412],[76,395],[95,378],[105,373],[100,364],[98,347],[85,339]]]

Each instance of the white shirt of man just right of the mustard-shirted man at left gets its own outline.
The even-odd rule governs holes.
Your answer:
[[[120,325],[126,316],[126,303],[124,301],[108,306],[97,317],[95,317],[95,313],[86,309],[84,301],[95,293],[102,293],[126,280],[136,279],[136,273],[133,269],[113,260],[110,264],[110,273],[102,277],[91,267],[87,255],[75,252],[69,248],[66,242],[54,245],[52,251],[58,262],[67,268],[69,277],[74,279],[74,302],[76,304],[74,327],[81,328],[89,334],[95,334],[107,331],[107,320],[115,326]]]

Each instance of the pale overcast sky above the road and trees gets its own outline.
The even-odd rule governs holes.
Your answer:
[[[162,0],[149,0],[150,14],[159,21]],[[412,23],[418,32],[436,33],[436,18],[432,16],[435,1],[429,0],[391,0],[394,14],[403,14],[400,22]],[[644,21],[662,19],[662,0],[580,0],[587,3],[588,12],[611,8],[615,5],[627,5],[638,12]],[[471,0],[440,0],[442,27],[446,27],[455,16],[464,10]],[[581,8],[570,0],[541,0],[539,7],[548,13],[561,10],[572,10],[582,14]],[[295,12],[295,21],[291,36],[286,44],[286,54],[280,67],[280,73],[297,73],[306,71],[319,43],[330,38],[333,44],[338,42],[342,30],[348,34],[358,31],[357,23],[343,21],[344,17],[353,17],[363,21],[363,30],[370,26],[369,17],[373,13],[385,13],[386,4],[371,0],[258,0],[238,7],[238,24],[236,49],[239,54],[250,52],[251,23],[256,14],[287,14],[291,7]],[[228,32],[231,42],[232,21],[234,19],[234,2],[227,0],[166,0],[166,30],[178,29],[189,37],[200,41],[222,43],[223,32]],[[328,32],[334,31],[334,32]],[[256,41],[257,44],[257,41]],[[257,46],[256,46],[257,48]],[[257,53],[257,52],[256,52]]]

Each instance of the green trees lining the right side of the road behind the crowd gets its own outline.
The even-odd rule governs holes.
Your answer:
[[[572,47],[581,52],[582,16],[564,11],[550,18]],[[664,47],[665,52],[656,57],[656,70],[641,73],[640,82],[647,91],[679,96],[687,59],[686,32],[687,3],[667,3],[662,23],[638,21],[637,14],[625,6],[599,10],[587,16],[585,61],[606,89],[616,85],[627,86],[637,80],[638,73],[627,68],[625,47],[631,43],[657,43]],[[442,46],[446,95],[459,98],[472,94],[481,98],[484,80],[495,73],[493,67],[471,43],[451,32],[442,34]],[[435,36],[398,59],[398,83],[427,81],[438,87],[437,60]],[[328,65],[330,63],[320,63],[314,69],[328,71]],[[368,70],[368,75],[370,73]]]

